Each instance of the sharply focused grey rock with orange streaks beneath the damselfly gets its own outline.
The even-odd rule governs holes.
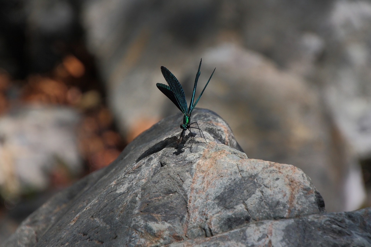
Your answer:
[[[207,143],[194,132],[190,150],[188,132],[175,149],[182,119],[170,116],[139,135],[111,165],[30,215],[3,246],[371,243],[370,209],[325,213],[308,176],[247,158],[209,110],[192,116]]]

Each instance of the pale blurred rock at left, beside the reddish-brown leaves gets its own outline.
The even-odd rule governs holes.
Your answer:
[[[0,184],[6,200],[46,190],[57,167],[72,176],[82,171],[76,139],[79,118],[70,108],[36,105],[0,117]]]

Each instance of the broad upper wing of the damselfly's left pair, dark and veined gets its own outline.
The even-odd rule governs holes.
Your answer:
[[[184,114],[187,114],[187,110],[188,110],[188,107],[187,107],[187,101],[185,100],[185,94],[184,94],[184,90],[182,88],[182,86],[180,85],[180,82],[178,81],[178,79],[173,75],[173,73],[171,73],[167,68],[165,68],[164,66],[161,66],[161,72],[162,72],[162,75],[164,76],[167,84],[169,84],[170,88],[167,88],[167,90],[171,90],[171,92],[173,92],[173,96],[175,98],[175,101],[177,103],[175,103],[173,101],[173,99],[171,99],[169,97],[169,93],[164,93],[164,91],[161,90],[162,93],[164,93],[171,101],[173,101],[173,103],[180,109],[180,111],[182,111]],[[156,84],[157,85],[157,84]],[[162,84],[164,85],[164,84]],[[157,86],[158,87],[158,86]],[[161,86],[161,88],[163,88]]]

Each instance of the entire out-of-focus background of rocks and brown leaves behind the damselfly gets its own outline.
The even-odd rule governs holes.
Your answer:
[[[371,204],[371,2],[0,0],[0,241],[179,110],[160,66],[249,158],[301,168],[327,211]]]

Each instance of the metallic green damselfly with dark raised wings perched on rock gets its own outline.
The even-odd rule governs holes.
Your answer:
[[[174,105],[178,107],[178,109],[181,112],[184,113],[183,124],[180,125],[180,128],[182,129],[182,132],[179,136],[178,146],[179,146],[180,141],[183,139],[184,132],[187,129],[190,131],[191,134],[192,134],[192,132],[191,132],[190,128],[198,129],[200,131],[200,136],[202,137],[202,135],[201,135],[202,130],[198,126],[198,123],[197,122],[190,123],[191,122],[191,113],[192,113],[193,109],[195,108],[195,106],[197,105],[198,101],[200,100],[201,95],[203,94],[204,90],[206,89],[207,84],[209,84],[210,79],[213,76],[216,68],[214,69],[213,73],[211,73],[211,76],[210,76],[209,80],[207,81],[206,85],[204,86],[204,89],[202,90],[202,92],[200,93],[200,95],[198,96],[196,101],[194,101],[194,95],[196,93],[198,78],[200,77],[200,74],[201,74],[201,72],[200,72],[201,62],[202,62],[202,58],[200,60],[200,65],[198,66],[196,79],[194,80],[193,93],[192,93],[192,98],[191,98],[191,102],[189,104],[189,107],[187,107],[187,101],[185,100],[184,90],[183,90],[182,86],[180,85],[179,80],[173,75],[173,73],[171,73],[164,66],[161,66],[161,72],[162,72],[162,75],[164,76],[168,85],[165,85],[165,84],[162,84],[162,83],[156,83],[157,88],[160,89],[160,91],[164,95],[166,95],[167,98],[169,98],[174,103]],[[196,123],[197,128],[196,127],[191,127],[191,125],[194,124],[194,123]],[[205,135],[204,135],[204,139],[206,141]],[[192,139],[192,144],[191,144],[190,151],[192,150],[192,145],[193,145],[193,139]],[[177,148],[178,148],[178,146],[177,146]]]

